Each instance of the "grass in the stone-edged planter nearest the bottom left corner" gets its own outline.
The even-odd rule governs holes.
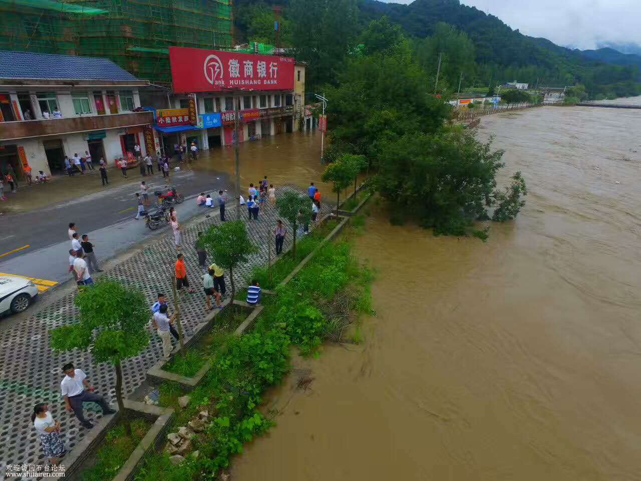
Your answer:
[[[96,464],[80,474],[82,481],[105,481],[117,475],[122,465],[133,453],[136,446],[147,434],[151,421],[134,419],[131,421],[131,437],[124,434],[124,425],[118,424],[104,437],[101,448],[96,453]]]

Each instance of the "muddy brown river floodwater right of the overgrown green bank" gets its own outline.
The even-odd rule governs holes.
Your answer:
[[[641,479],[640,121],[483,118],[502,181],[520,170],[529,187],[486,244],[374,212],[356,239],[377,270],[363,344],[296,360],[310,371],[270,393],[278,425],[235,480]]]

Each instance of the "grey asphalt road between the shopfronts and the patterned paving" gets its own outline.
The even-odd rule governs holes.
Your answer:
[[[160,176],[146,178],[146,181],[153,201],[153,191],[164,189],[165,183]],[[170,185],[188,198],[176,209],[182,221],[201,212],[202,208],[193,200],[200,192],[232,189],[227,174],[200,171],[172,173]],[[137,181],[42,210],[3,215],[0,255],[26,245],[29,248],[0,257],[0,273],[46,280],[41,291],[53,287],[53,283],[69,280],[67,258],[71,246],[67,226],[70,222],[76,223],[79,234],[89,235],[99,260],[112,258],[146,237],[151,239],[153,232],[145,227],[144,221],[134,219],[137,211],[134,194],[139,186]]]

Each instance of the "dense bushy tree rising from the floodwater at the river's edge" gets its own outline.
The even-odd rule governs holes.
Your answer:
[[[383,149],[376,187],[394,215],[415,215],[437,234],[465,235],[494,205],[502,156],[460,128],[408,133]]]

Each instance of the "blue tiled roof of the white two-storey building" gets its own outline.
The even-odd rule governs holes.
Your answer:
[[[138,80],[106,58],[0,50],[0,78]]]

